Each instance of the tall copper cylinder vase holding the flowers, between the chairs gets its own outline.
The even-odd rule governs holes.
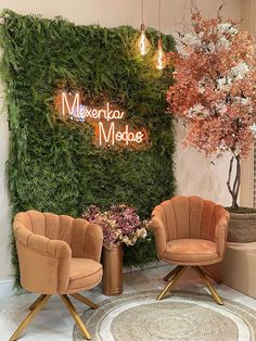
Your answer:
[[[103,294],[114,296],[123,292],[123,247],[103,248]]]

